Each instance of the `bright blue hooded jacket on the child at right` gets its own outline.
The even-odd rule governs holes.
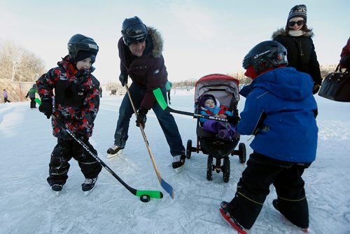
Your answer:
[[[293,67],[260,74],[242,88],[246,97],[237,130],[255,135],[251,148],[270,158],[311,163],[316,158],[317,104],[311,76]]]

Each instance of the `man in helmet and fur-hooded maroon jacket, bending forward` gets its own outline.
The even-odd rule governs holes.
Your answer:
[[[129,90],[137,109],[136,125],[145,127],[146,114],[153,109],[173,157],[172,167],[175,172],[181,172],[186,156],[179,129],[172,114],[163,111],[153,95],[153,90],[160,88],[164,98],[167,99],[165,88],[167,68],[162,55],[163,40],[160,32],[153,27],[147,27],[141,19],[134,16],[124,20],[122,35],[118,42],[119,80],[124,86],[127,84],[128,76],[132,79]],[[115,156],[124,149],[133,113],[129,96],[125,94],[120,104],[114,144],[107,150],[109,157]]]

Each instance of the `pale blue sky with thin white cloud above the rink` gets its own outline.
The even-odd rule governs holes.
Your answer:
[[[91,36],[100,48],[94,75],[102,83],[118,82],[120,28],[125,18],[137,15],[162,34],[169,80],[198,79],[242,71],[248,50],[284,27],[296,4],[307,5],[307,25],[314,29],[320,64],[337,64],[350,36],[346,0],[0,0],[0,41],[14,41],[41,57],[50,69],[67,54],[66,43],[73,34]]]

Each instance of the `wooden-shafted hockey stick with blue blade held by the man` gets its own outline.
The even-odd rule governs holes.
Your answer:
[[[125,84],[125,88],[127,89],[127,95],[129,96],[130,103],[132,104],[132,109],[134,110],[135,116],[137,118],[137,110],[136,110],[136,108],[134,106],[134,102],[132,101],[130,90],[127,87],[127,84]],[[143,125],[140,125],[140,130],[141,130],[142,137],[144,137],[144,142],[146,144],[146,147],[147,147],[147,150],[148,150],[148,154],[150,155],[150,158],[152,160],[152,164],[153,164],[153,167],[154,167],[154,170],[155,170],[155,174],[157,174],[160,186],[162,186],[162,188],[164,188],[165,191],[167,191],[167,193],[169,193],[169,195],[174,199],[174,189],[173,189],[173,187],[170,184],[168,184],[164,179],[162,179],[162,176],[160,175],[160,172],[158,170],[157,164],[155,163],[155,159],[154,159],[153,153],[151,151],[151,147],[148,144],[148,140],[147,140],[146,133],[145,133]]]

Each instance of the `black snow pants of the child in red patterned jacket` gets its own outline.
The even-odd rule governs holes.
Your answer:
[[[92,147],[88,141],[84,143],[90,150],[97,155],[97,151]],[[94,157],[87,153],[78,142],[75,140],[57,139],[57,145],[51,153],[51,160],[49,164],[48,184],[65,184],[68,178],[69,160],[74,158],[78,161],[81,172],[83,172],[85,179],[93,179],[97,177],[102,170],[102,166]]]

